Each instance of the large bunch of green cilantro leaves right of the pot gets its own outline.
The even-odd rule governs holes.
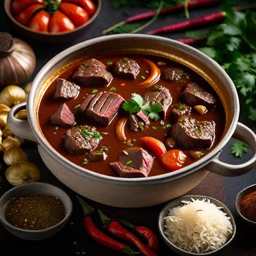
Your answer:
[[[223,4],[226,19],[208,35],[202,52],[216,60],[236,85],[244,115],[256,121],[256,13]]]

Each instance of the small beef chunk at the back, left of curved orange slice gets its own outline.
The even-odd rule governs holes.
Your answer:
[[[140,72],[140,67],[135,60],[129,58],[122,58],[115,61],[113,65],[113,73],[116,76],[124,77],[126,79],[135,79]]]

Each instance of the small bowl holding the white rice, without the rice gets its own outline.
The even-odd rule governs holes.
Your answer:
[[[219,249],[214,250],[214,251],[210,251],[210,252],[206,252],[206,253],[188,252],[186,250],[180,249],[178,246],[173,244],[166,237],[166,235],[164,234],[164,217],[168,216],[169,209],[172,209],[173,207],[177,207],[179,205],[182,205],[181,201],[183,201],[183,200],[191,201],[191,198],[193,198],[193,199],[200,199],[200,200],[202,200],[204,198],[209,199],[212,204],[215,204],[218,207],[223,207],[222,211],[226,212],[227,216],[230,217],[230,222],[231,222],[231,224],[233,226],[232,236],[227,241],[227,243],[223,244],[223,246],[221,246]],[[216,199],[214,199],[212,197],[209,197],[209,196],[188,195],[188,196],[180,196],[179,198],[176,198],[176,199],[168,202],[168,204],[166,204],[163,207],[163,209],[160,211],[159,218],[158,218],[158,229],[159,229],[159,232],[160,232],[161,237],[163,238],[164,242],[168,245],[168,247],[170,249],[173,250],[173,252],[175,252],[175,253],[177,253],[179,255],[182,255],[182,256],[188,256],[188,255],[199,255],[199,256],[202,256],[202,255],[212,255],[212,254],[215,254],[215,253],[219,252],[220,250],[223,250],[223,248],[225,248],[228,244],[230,244],[230,242],[234,239],[234,236],[236,234],[236,223],[235,223],[235,220],[234,220],[234,217],[233,217],[232,213],[228,210],[227,206],[222,204],[220,201],[218,201],[218,200],[216,200]]]

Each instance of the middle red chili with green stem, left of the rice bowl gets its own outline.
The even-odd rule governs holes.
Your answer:
[[[118,222],[118,221],[120,221],[120,222],[124,223],[125,221],[110,219],[107,216],[105,216],[102,211],[98,210],[98,212],[100,214],[100,218],[102,220],[102,223],[104,224],[104,227],[108,230],[108,232],[110,234],[112,234],[113,236],[116,236],[118,238],[124,239],[125,241],[127,241],[131,244],[134,244],[140,250],[140,252],[143,256],[157,256],[157,254],[152,252],[152,250],[150,250],[150,248],[148,248],[148,246],[143,244],[140,241],[140,239],[138,239],[138,237],[134,236],[134,234],[129,232]],[[140,228],[139,228],[139,230],[140,230]],[[144,234],[145,234],[145,232],[144,232]],[[150,236],[149,233],[147,233],[147,236]],[[157,241],[157,244],[155,244],[154,246],[156,248],[158,247],[158,241]]]

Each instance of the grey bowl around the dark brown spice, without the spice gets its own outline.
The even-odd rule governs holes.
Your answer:
[[[58,198],[60,198],[65,207],[65,217],[63,218],[63,220],[61,220],[59,223],[56,223],[52,227],[42,230],[26,230],[23,228],[17,228],[10,224],[8,221],[6,221],[6,207],[13,198],[34,194],[58,196]],[[72,202],[67,193],[65,193],[62,189],[56,186],[43,182],[22,184],[8,190],[0,198],[0,220],[3,227],[11,232],[14,236],[26,240],[42,240],[54,236],[56,233],[60,232],[60,230],[67,224],[67,221],[72,214],[72,209]]]

